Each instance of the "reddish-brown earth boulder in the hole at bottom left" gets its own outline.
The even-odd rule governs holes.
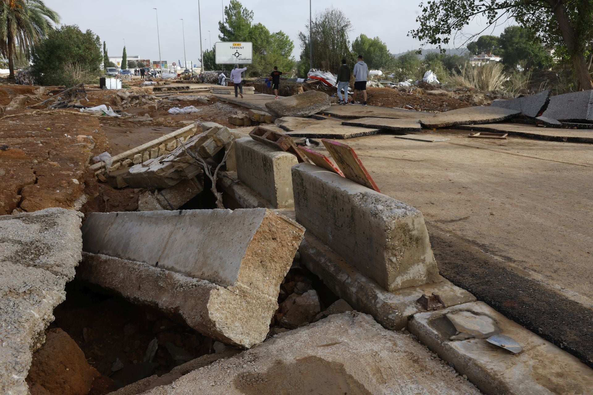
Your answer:
[[[52,395],[86,395],[98,375],[68,333],[54,328],[47,331],[46,342],[33,354],[27,381]]]

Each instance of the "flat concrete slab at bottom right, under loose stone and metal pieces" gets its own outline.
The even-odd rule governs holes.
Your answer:
[[[499,332],[517,341],[522,351],[513,354],[484,338],[451,340],[457,330],[447,315],[460,311],[493,320]],[[416,314],[409,328],[487,394],[585,394],[593,388],[591,368],[480,301]]]

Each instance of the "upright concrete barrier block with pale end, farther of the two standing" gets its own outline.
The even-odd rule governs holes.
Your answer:
[[[275,150],[245,137],[235,140],[237,175],[272,207],[292,207],[291,168],[298,163],[291,153]]]

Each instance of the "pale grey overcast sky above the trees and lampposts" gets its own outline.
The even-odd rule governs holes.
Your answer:
[[[181,21],[185,25],[185,43],[187,60],[199,63],[200,38],[198,24],[198,5],[196,0],[167,1],[127,0],[127,1],[72,1],[46,0],[46,5],[62,17],[62,24],[76,24],[81,30],[91,29],[107,41],[110,56],[121,56],[125,38],[128,55],[139,55],[141,59],[158,60],[157,17],[161,38],[162,60],[183,61],[183,40]],[[222,5],[229,0],[201,0],[202,49],[206,50],[218,41],[218,21],[222,20]],[[282,30],[295,43],[294,56],[299,57],[301,49],[297,34],[304,30],[309,19],[309,2],[306,0],[269,1],[244,0],[242,4],[254,13],[254,23],[264,24],[270,31]],[[407,37],[407,32],[416,28],[416,16],[420,11],[419,0],[315,0],[313,15],[334,5],[341,8],[352,22],[354,30],[350,40],[359,34],[381,37],[391,53],[400,53],[417,49],[419,42]],[[368,5],[368,8],[365,8]],[[485,26],[480,20],[473,21],[468,33],[480,31]],[[505,25],[487,30],[484,34],[499,35]],[[460,46],[461,41],[455,45]]]

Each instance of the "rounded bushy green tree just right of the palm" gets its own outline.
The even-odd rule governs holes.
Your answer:
[[[90,30],[82,33],[76,25],[62,25],[33,47],[32,59],[31,71],[40,84],[65,85],[69,81],[63,70],[68,65],[76,65],[83,73],[100,70],[101,40]]]

